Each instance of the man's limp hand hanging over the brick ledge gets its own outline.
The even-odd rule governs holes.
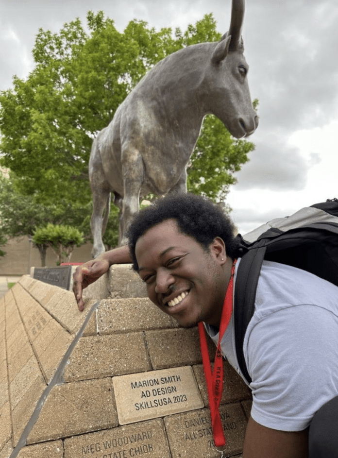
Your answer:
[[[82,266],[76,268],[73,273],[73,293],[80,312],[84,309],[82,290],[106,273],[109,267],[109,261],[103,256],[98,256],[96,259],[85,262]]]

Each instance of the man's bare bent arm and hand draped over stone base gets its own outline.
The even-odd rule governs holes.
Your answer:
[[[98,278],[109,270],[112,264],[125,264],[132,262],[129,254],[128,245],[106,251],[95,259],[87,261],[82,266],[78,266],[73,273],[73,293],[77,302],[78,309],[84,309],[82,290],[94,283]]]

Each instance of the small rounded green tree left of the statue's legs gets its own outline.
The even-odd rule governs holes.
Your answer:
[[[35,230],[32,241],[36,246],[50,247],[59,266],[62,262],[69,262],[75,246],[79,247],[84,243],[84,237],[75,227],[49,223],[46,227]]]

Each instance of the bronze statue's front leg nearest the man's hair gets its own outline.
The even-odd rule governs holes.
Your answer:
[[[122,160],[124,197],[120,220],[123,230],[119,245],[128,243],[126,231],[133,215],[139,210],[140,190],[144,180],[144,172],[143,160],[138,150],[131,147],[128,151],[124,150]]]

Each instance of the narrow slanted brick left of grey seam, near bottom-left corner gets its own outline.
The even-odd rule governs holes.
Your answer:
[[[46,382],[42,375],[37,377],[26,390],[24,396],[17,403],[17,406],[12,408],[12,422],[13,422],[13,443],[17,445],[21,434],[31,418],[38,400],[40,399],[43,391],[46,389]]]

